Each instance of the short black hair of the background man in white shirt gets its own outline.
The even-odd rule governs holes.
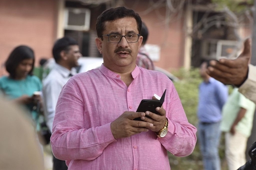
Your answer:
[[[75,39],[71,37],[63,37],[58,39],[52,48],[52,55],[56,63],[61,59],[60,52],[65,51],[68,52],[70,49],[70,45],[78,45]]]

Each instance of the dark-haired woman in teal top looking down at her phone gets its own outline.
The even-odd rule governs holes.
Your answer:
[[[32,74],[34,62],[34,51],[30,47],[16,47],[6,60],[5,67],[9,76],[0,78],[0,89],[4,96],[25,106],[37,123],[42,98],[33,94],[42,90],[42,84],[40,79]]]

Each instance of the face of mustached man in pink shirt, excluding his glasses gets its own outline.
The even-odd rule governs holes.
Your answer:
[[[128,33],[138,34],[137,22],[134,18],[120,18],[114,21],[106,21],[103,35],[118,33],[126,35]],[[103,56],[104,65],[110,70],[118,71],[124,67],[134,69],[136,66],[136,57],[142,43],[142,36],[136,43],[128,43],[125,37],[122,37],[119,43],[108,42],[108,36],[95,39],[98,50]]]

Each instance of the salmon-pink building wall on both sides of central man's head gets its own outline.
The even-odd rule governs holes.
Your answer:
[[[184,14],[181,12],[177,16],[171,13],[168,16],[170,23],[166,23],[165,6],[145,12],[150,8],[149,1],[139,2],[124,0],[121,5],[140,14],[150,33],[147,43],[160,46],[160,59],[154,64],[166,70],[180,68],[184,65]],[[4,64],[18,45],[34,49],[36,66],[40,58],[52,57],[52,45],[58,30],[58,10],[58,0],[0,0],[0,25],[4,25],[0,26],[0,64]],[[92,18],[96,20],[94,14]],[[91,23],[95,25],[94,21]],[[4,72],[4,67],[1,68],[0,75]]]

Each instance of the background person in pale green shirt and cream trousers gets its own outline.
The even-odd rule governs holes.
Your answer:
[[[255,104],[234,88],[222,108],[221,130],[225,132],[225,156],[229,170],[246,162],[246,146],[251,135]]]

